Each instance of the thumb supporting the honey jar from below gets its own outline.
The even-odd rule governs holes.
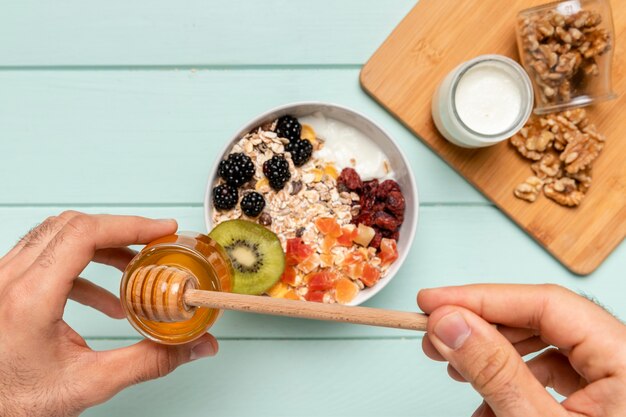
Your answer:
[[[124,388],[163,377],[187,362],[215,356],[217,351],[217,340],[207,333],[184,345],[143,340],[125,348],[95,352],[97,360],[90,377],[98,394],[92,392],[90,397],[96,394],[94,404],[104,402]]]

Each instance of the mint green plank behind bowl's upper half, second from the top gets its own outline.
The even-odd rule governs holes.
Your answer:
[[[198,204],[231,135],[299,100],[343,104],[388,129],[423,202],[486,201],[357,79],[356,69],[0,71],[0,178],[11,178],[0,205]]]

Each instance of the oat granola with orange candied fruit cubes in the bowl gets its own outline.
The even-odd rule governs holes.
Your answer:
[[[348,303],[360,290],[375,285],[387,274],[397,259],[396,241],[379,238],[378,247],[373,247],[372,238],[364,238],[369,231],[354,224],[361,211],[361,198],[339,186],[340,173],[332,162],[315,156],[325,141],[315,136],[312,127],[303,125],[301,137],[311,142],[314,153],[296,166],[290,152],[286,152],[289,140],[277,135],[276,124],[274,121],[254,129],[230,151],[251,159],[255,173],[243,186],[242,194],[259,193],[265,201],[263,212],[250,217],[239,206],[214,209],[213,223],[238,218],[258,221],[278,236],[287,254],[287,267],[268,295]],[[263,170],[266,161],[276,156],[285,158],[290,173],[279,190],[272,188]],[[223,182],[220,178],[215,185]]]

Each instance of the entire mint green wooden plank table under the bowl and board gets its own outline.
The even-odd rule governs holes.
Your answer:
[[[368,305],[415,309],[420,288],[554,282],[626,318],[626,246],[569,273],[359,88],[361,65],[408,0],[5,1],[0,7],[0,250],[46,216],[175,217],[204,230],[206,178],[223,142],[297,100],[381,123],[422,199],[402,272]],[[117,291],[119,273],[86,276]],[[69,303],[95,349],[138,340]],[[134,387],[87,416],[469,416],[479,398],[406,331],[226,313],[218,357]]]

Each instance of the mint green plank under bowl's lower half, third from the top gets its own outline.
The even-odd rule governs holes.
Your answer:
[[[0,252],[25,230],[60,209],[2,208]],[[128,213],[155,218],[176,217],[183,230],[204,230],[202,208],[185,207],[89,207],[99,213]],[[594,274],[586,278],[569,273],[506,216],[490,206],[424,207],[416,241],[400,274],[369,306],[412,311],[420,288],[475,282],[553,282],[599,299],[622,319],[626,318],[623,294],[626,283],[626,245],[622,245]],[[117,293],[120,274],[102,266],[89,267],[84,276]],[[125,321],[111,320],[98,312],[69,303],[67,321],[85,336],[133,337]],[[213,332],[227,338],[344,338],[398,337],[409,331],[321,323],[305,320],[227,312]]]

